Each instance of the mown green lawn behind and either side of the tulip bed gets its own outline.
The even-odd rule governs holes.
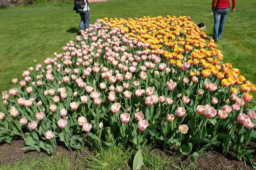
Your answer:
[[[212,38],[213,14],[211,0],[108,0],[90,4],[90,23],[97,19],[157,17],[184,15],[194,23],[207,26],[207,39]],[[231,1],[230,1],[231,3]],[[236,11],[226,19],[223,37],[217,42],[224,62],[239,68],[240,74],[256,84],[256,1],[236,2]],[[53,53],[62,52],[70,40],[76,40],[80,16],[73,3],[39,4],[0,10],[0,91],[13,87],[12,78],[21,74],[34,59],[43,63]],[[256,98],[256,94],[253,94]]]

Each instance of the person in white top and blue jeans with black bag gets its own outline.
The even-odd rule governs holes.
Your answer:
[[[86,28],[89,28],[90,23],[90,8],[88,4],[90,3],[90,0],[84,0],[85,6],[84,8],[78,8],[81,21],[79,25],[79,34],[81,34],[82,31],[84,31]],[[84,30],[83,30],[84,29]]]

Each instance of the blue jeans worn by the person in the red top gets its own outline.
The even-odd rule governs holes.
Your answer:
[[[226,9],[214,9],[214,27],[213,27],[213,40],[218,41],[219,37],[222,37],[224,30],[225,18],[229,12],[229,8]]]

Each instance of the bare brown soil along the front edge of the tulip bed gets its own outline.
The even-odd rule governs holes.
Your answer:
[[[45,155],[46,152],[41,151],[40,153],[37,153],[33,150],[23,150],[25,147],[23,139],[16,137],[12,144],[2,143],[0,145],[0,159],[2,159],[6,163],[15,163],[17,160],[22,159],[29,159],[33,158],[36,154],[37,156]],[[248,149],[255,149],[256,143],[250,142],[248,144]],[[166,150],[163,151],[160,148],[152,148],[158,149],[157,152],[160,153],[164,158],[170,158],[170,159],[177,159],[177,147],[173,147],[172,150]],[[57,141],[56,146],[56,155],[67,155],[72,158],[76,158],[78,156],[78,159],[81,158],[83,154],[93,154],[90,152],[90,150],[85,147],[84,150],[81,151],[80,154],[76,150],[71,151],[67,150],[67,147],[65,147],[61,142]],[[188,159],[191,157],[191,155],[184,156],[181,155],[179,158],[182,162],[182,164],[186,165],[188,164]],[[252,153],[253,162],[256,162],[256,152]],[[180,164],[180,161],[176,161],[177,164]],[[253,170],[253,167],[251,167],[250,162],[245,160],[244,161],[238,161],[236,153],[233,153],[229,151],[226,156],[222,155],[222,147],[214,147],[213,150],[210,151],[204,151],[200,154],[200,156],[197,159],[196,162],[196,168],[200,170]]]

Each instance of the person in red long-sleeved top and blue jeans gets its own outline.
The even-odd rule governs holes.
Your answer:
[[[218,38],[222,37],[224,30],[225,18],[229,12],[229,0],[212,0],[212,11],[214,15],[214,27],[213,27],[213,37],[212,39],[217,42]],[[235,11],[236,0],[232,0],[231,12]]]

